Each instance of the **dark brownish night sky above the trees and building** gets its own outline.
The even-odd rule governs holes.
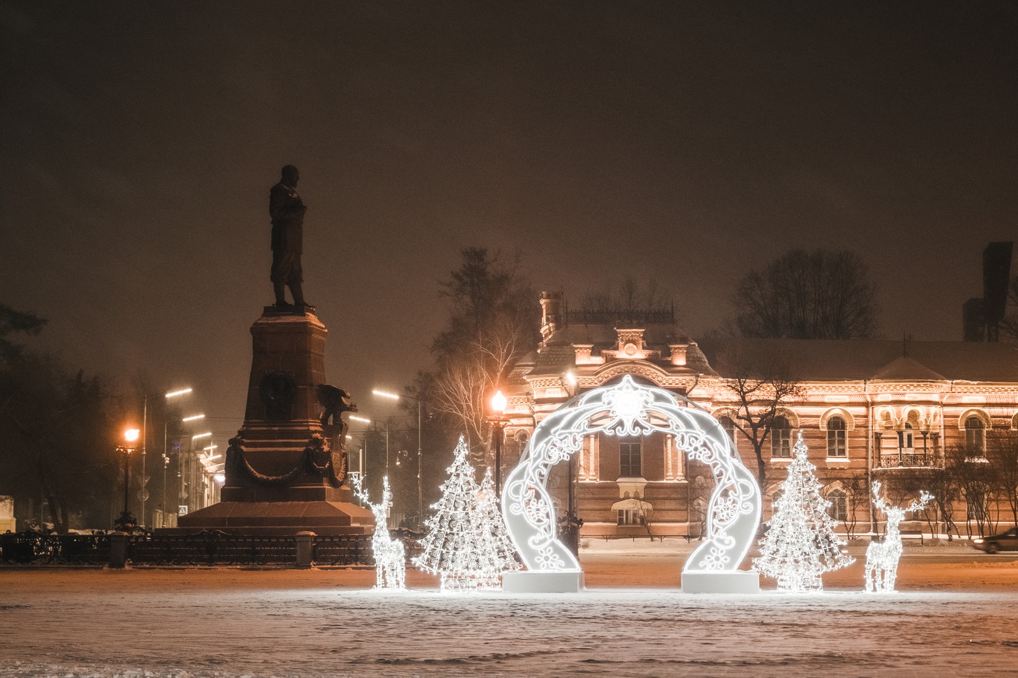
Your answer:
[[[193,386],[223,443],[292,163],[329,381],[369,416],[467,245],[577,303],[654,277],[694,339],[749,268],[853,248],[885,336],[960,339],[1018,235],[1016,35],[1003,2],[4,0],[0,303],[76,366]]]

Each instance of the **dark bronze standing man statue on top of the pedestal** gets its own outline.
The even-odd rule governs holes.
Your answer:
[[[308,306],[301,289],[303,270],[300,268],[304,231],[304,207],[297,194],[300,172],[293,165],[283,168],[279,183],[269,191],[269,214],[272,216],[272,288],[276,305],[287,306],[286,287],[293,295],[293,305]]]

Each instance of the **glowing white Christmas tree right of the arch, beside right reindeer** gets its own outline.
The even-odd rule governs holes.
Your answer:
[[[824,590],[824,572],[851,565],[854,559],[841,551],[845,542],[834,532],[838,521],[828,514],[831,502],[821,496],[822,486],[813,473],[816,467],[806,458],[801,431],[794,451],[753,565],[777,579],[779,590],[819,591]]]

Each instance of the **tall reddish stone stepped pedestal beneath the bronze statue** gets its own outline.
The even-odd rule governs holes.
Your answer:
[[[222,502],[179,516],[193,532],[370,533],[372,512],[353,503],[345,458],[323,437],[318,386],[327,330],[305,308],[266,306],[251,326],[244,425],[230,441]]]

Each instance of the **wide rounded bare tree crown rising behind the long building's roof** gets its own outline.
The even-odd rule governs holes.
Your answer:
[[[855,252],[793,249],[739,281],[735,326],[745,337],[863,339],[876,332],[875,294]]]

